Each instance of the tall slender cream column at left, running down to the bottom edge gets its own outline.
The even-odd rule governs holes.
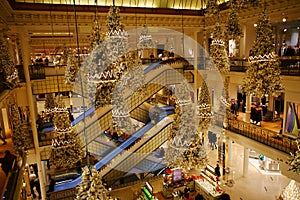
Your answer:
[[[21,31],[20,31],[21,32]],[[22,58],[23,58],[23,68],[24,68],[24,75],[26,80],[26,90],[27,90],[27,98],[29,103],[29,111],[30,111],[30,121],[31,121],[31,129],[33,134],[33,143],[35,148],[35,158],[38,167],[38,176],[41,188],[41,196],[42,200],[46,199],[46,190],[45,190],[45,179],[44,179],[44,172],[41,164],[41,155],[40,155],[40,147],[38,141],[38,132],[36,128],[36,115],[35,109],[33,104],[33,95],[31,89],[31,82],[29,76],[28,66],[30,65],[30,47],[29,47],[29,38],[25,36],[24,33],[19,34],[21,39],[21,48],[22,48]]]

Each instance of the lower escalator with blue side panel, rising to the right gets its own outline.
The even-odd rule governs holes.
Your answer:
[[[95,164],[95,167],[97,170],[102,169],[101,175],[105,181],[111,183],[122,177],[127,173],[127,171],[123,171],[123,169],[130,170],[147,157],[149,153],[165,142],[171,129],[170,125],[173,121],[170,115],[173,113],[174,107],[172,106],[162,108],[157,123],[154,124],[150,122],[146,124],[136,133],[132,134],[131,137],[124,141],[120,146],[113,149],[98,161]],[[149,144],[151,146],[150,148]],[[78,177],[72,181],[58,184],[55,186],[55,192],[74,188],[81,181],[81,177]]]

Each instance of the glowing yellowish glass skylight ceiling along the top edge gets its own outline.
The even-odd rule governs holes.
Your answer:
[[[68,4],[73,5],[73,0],[14,0],[18,3],[40,3],[40,4]],[[139,8],[170,8],[201,10],[206,8],[209,0],[75,0],[76,5],[81,6],[111,6],[115,4],[121,7]],[[222,4],[229,0],[219,0]]]

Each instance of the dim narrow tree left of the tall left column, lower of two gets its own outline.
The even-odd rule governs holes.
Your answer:
[[[10,111],[13,125],[12,141],[18,155],[24,156],[25,151],[32,146],[32,135],[29,133],[27,122],[20,118],[18,106],[12,104]]]

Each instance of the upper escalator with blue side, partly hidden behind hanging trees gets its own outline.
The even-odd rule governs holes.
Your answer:
[[[153,94],[161,90],[165,85],[181,83],[182,77],[178,76],[178,72],[170,67],[162,67],[164,63],[158,62],[149,65],[145,70],[145,90],[147,93],[144,96],[134,93],[129,96],[129,93],[125,93],[125,99],[129,102],[129,112],[133,112],[136,108],[142,105]],[[86,119],[85,123],[82,123],[83,119]],[[76,127],[77,133],[83,144],[88,144],[95,148],[94,140],[99,137],[99,133],[103,133],[110,128],[112,121],[111,107],[105,106],[103,108],[96,109],[91,108],[84,115],[79,116],[73,125]],[[83,129],[85,127],[85,133]],[[87,141],[86,141],[87,140]],[[98,151],[99,152],[99,151]],[[90,153],[96,153],[90,151]]]

